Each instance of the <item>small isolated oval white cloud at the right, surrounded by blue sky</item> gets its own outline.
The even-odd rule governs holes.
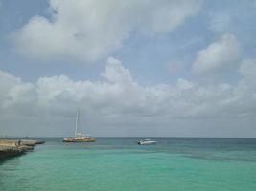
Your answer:
[[[198,74],[218,71],[237,61],[240,54],[241,48],[236,37],[224,34],[221,39],[198,52],[193,70]]]

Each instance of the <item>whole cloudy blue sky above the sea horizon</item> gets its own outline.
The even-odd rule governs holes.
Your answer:
[[[255,0],[0,0],[0,137],[256,138]]]

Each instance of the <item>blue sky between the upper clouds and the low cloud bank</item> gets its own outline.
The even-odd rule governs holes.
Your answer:
[[[42,61],[14,53],[11,33],[22,28],[35,15],[51,18],[49,2],[2,0],[1,4],[1,69],[28,80],[55,74],[67,74],[75,79],[97,78],[99,71],[104,69],[105,58],[93,63],[74,59]],[[161,34],[131,32],[130,37],[124,41],[123,47],[109,55],[122,59],[124,65],[128,66],[132,74],[138,78],[143,71],[144,80],[150,80],[152,83],[168,83],[176,77],[188,76],[186,70],[179,71],[178,74],[170,74],[168,64],[182,62],[186,65],[184,68],[189,70],[198,50],[207,47],[224,32],[231,32],[241,40],[240,43],[245,49],[244,56],[253,56],[255,43],[251,39],[256,35],[256,27],[253,25],[256,17],[255,2],[204,1],[201,4],[198,14],[187,18],[174,31]],[[30,70],[20,73],[21,71],[17,70],[18,65],[21,68],[28,67]]]

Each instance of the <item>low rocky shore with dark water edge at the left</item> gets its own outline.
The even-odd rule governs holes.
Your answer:
[[[7,159],[22,155],[34,149],[37,144],[43,144],[39,140],[0,139],[0,159]]]

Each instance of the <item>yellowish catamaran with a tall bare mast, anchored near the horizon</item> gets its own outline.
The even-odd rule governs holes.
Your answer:
[[[94,142],[95,138],[92,138],[90,135],[78,133],[78,121],[79,121],[79,109],[77,110],[74,137],[63,138],[63,142]]]

